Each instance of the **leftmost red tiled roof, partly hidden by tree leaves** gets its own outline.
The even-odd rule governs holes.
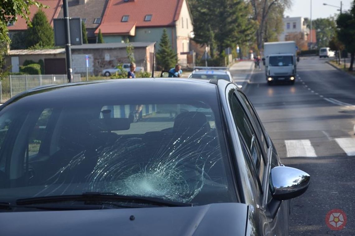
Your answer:
[[[62,0],[37,0],[43,5],[48,6],[48,8],[43,8],[45,15],[47,16],[48,22],[53,27],[53,18],[56,18],[59,14],[60,7],[62,6]],[[38,8],[36,6],[31,6],[29,8],[31,14],[29,15],[30,20],[32,21],[33,16],[37,13]],[[26,30],[27,24],[26,20],[22,17],[18,17],[18,20],[11,26],[8,27],[9,30]]]

